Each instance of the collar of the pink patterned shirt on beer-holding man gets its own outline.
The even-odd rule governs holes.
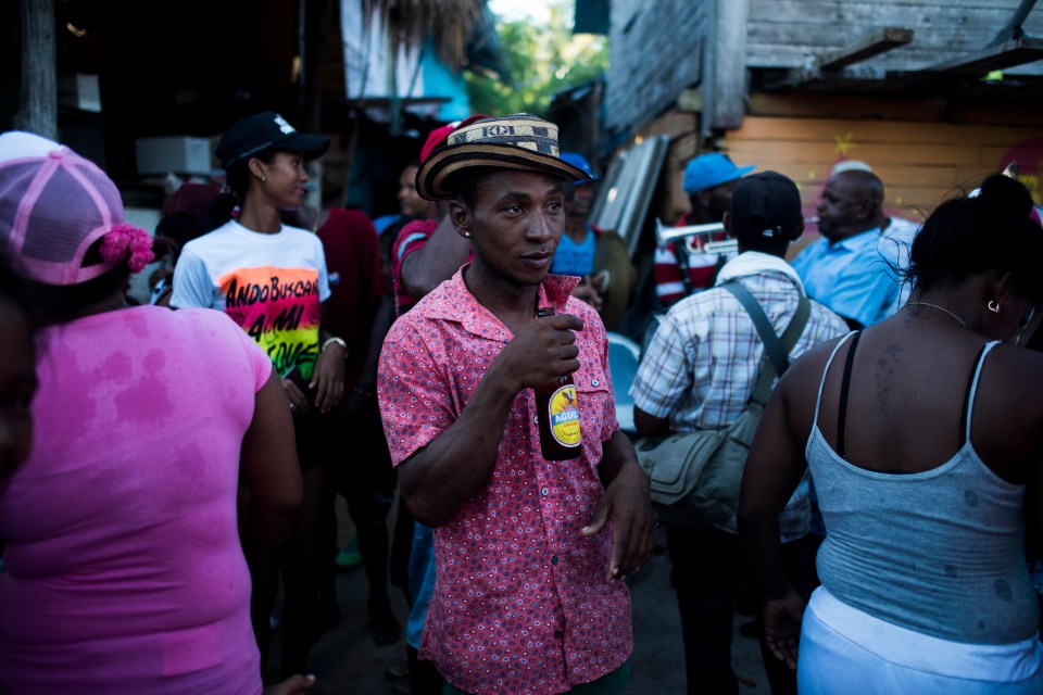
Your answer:
[[[449,282],[443,286],[444,291],[425,309],[428,318],[454,321],[464,327],[469,333],[495,340],[511,340],[511,331],[492,312],[478,303],[475,295],[464,282],[464,271],[470,266],[465,264],[457,270]],[[568,275],[548,275],[543,278],[539,289],[539,306],[551,306],[555,314],[565,312],[573,290],[579,285],[579,278]],[[415,308],[412,311],[416,311]]]

